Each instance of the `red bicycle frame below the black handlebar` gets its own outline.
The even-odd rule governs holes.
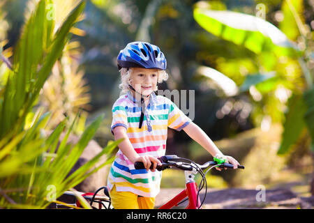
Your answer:
[[[196,172],[197,173],[197,172]],[[170,201],[167,201],[167,203],[163,204],[163,206],[160,206],[158,209],[170,209],[174,206],[177,206],[177,204],[188,197],[188,206],[186,206],[186,209],[198,209],[200,208],[200,197],[197,197],[197,185],[194,180],[194,175],[196,174],[195,171],[184,171],[184,174],[186,176],[186,189],[181,191],[179,194],[177,194],[176,197],[172,198]],[[196,206],[197,204],[197,206]]]

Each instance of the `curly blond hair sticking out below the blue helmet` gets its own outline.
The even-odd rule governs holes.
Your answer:
[[[121,89],[120,95],[127,93],[130,90],[130,84],[132,82],[132,72],[133,68],[121,68],[119,70],[121,74],[121,84],[119,84],[119,89]],[[165,70],[157,70],[158,79],[157,82],[161,83],[168,79],[168,74]],[[153,91],[157,91],[158,86],[154,86]]]

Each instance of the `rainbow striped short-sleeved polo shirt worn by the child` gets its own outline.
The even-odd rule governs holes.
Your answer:
[[[154,92],[145,109],[142,128],[138,128],[140,114],[140,102],[135,100],[130,91],[121,95],[112,107],[111,130],[124,126],[130,143],[139,155],[165,155],[167,128],[180,131],[191,122],[174,102]],[[156,197],[160,180],[161,171],[135,169],[134,164],[119,149],[108,175],[107,186],[109,190],[115,185],[118,192]]]

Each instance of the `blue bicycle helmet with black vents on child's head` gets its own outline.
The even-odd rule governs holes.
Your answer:
[[[128,43],[118,55],[118,68],[147,68],[160,69],[167,68],[165,55],[159,47],[147,42]]]

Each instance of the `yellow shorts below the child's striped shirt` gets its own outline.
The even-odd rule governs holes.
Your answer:
[[[153,209],[155,197],[140,197],[132,192],[117,192],[116,186],[110,191],[114,209]]]

